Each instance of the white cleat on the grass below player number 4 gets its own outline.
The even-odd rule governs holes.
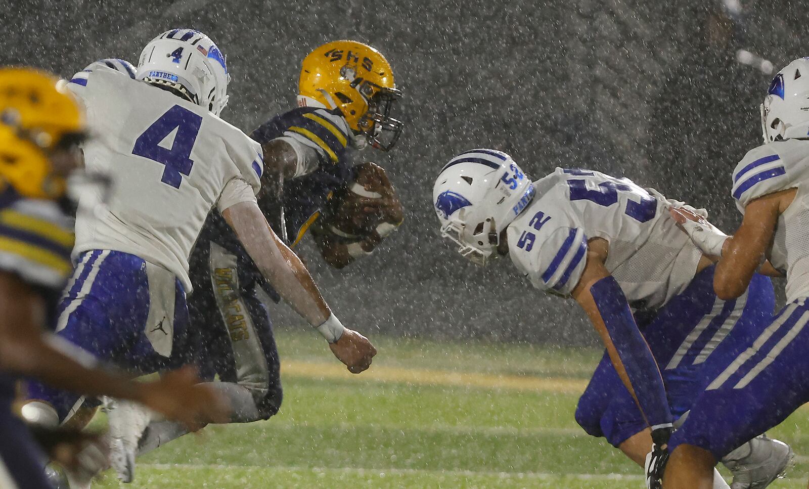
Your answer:
[[[107,404],[110,436],[110,465],[118,478],[131,483],[135,478],[138,442],[152,419],[152,411],[137,402],[111,400]]]

